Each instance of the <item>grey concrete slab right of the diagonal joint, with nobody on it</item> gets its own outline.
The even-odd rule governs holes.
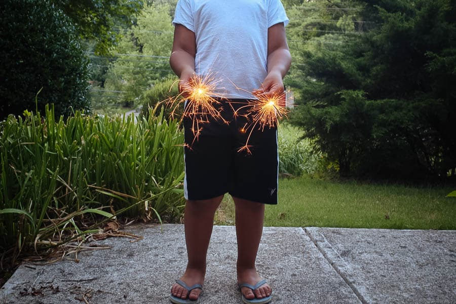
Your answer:
[[[456,303],[456,232],[306,228],[364,303]]]

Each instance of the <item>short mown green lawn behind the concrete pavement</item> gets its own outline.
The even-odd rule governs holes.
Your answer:
[[[329,181],[304,176],[279,180],[279,204],[267,206],[265,226],[456,230],[451,187]],[[225,197],[216,224],[234,224]]]

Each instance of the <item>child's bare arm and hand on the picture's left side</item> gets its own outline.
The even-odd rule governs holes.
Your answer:
[[[195,54],[195,33],[183,25],[176,24],[169,63],[180,79],[179,90],[187,85],[195,73]]]

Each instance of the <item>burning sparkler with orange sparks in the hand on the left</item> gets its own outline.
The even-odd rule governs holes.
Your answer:
[[[182,86],[181,93],[178,96],[168,99],[168,105],[171,107],[171,117],[173,118],[180,104],[187,102],[181,121],[186,117],[192,120],[193,142],[201,134],[202,124],[208,123],[210,119],[228,123],[221,116],[222,108],[220,106],[216,107],[216,105],[220,104],[217,98],[222,98],[216,93],[217,84],[220,81],[214,77],[213,73],[208,73],[204,77],[194,75],[188,84]]]

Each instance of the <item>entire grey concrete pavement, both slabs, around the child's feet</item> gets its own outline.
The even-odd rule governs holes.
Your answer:
[[[112,248],[82,252],[78,263],[23,264],[0,303],[168,304],[186,252],[183,225],[162,230],[98,241]],[[215,226],[200,303],[242,303],[235,264],[235,228]],[[257,268],[275,304],[455,303],[456,231],[265,227]]]

